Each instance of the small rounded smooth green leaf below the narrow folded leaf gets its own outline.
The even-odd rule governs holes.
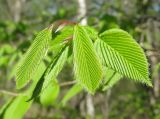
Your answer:
[[[57,80],[56,79],[52,80],[52,82],[50,82],[48,87],[42,91],[40,95],[40,102],[44,106],[48,106],[55,103],[55,100],[57,99],[59,94],[59,89],[60,87]]]

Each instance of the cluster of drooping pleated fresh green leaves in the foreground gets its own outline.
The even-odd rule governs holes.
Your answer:
[[[50,51],[56,54],[50,65],[46,69],[42,68],[42,75],[34,75],[34,85],[28,90],[28,95],[32,94],[29,100],[39,96],[41,92],[42,104],[48,105],[55,100],[59,93],[59,85],[57,83],[57,87],[54,87],[55,85],[51,84],[62,70],[72,45],[75,78],[78,82],[65,95],[62,104],[82,91],[82,87],[94,94],[99,86],[103,86],[102,90],[106,90],[123,76],[152,86],[148,78],[148,63],[145,54],[127,32],[111,29],[98,36],[98,32],[89,26],[75,25],[74,28],[70,26],[62,29],[60,34],[55,33],[54,36],[51,40],[51,29],[41,31],[18,67],[16,83],[18,88],[22,88],[34,78],[33,74],[49,46]],[[103,72],[102,67],[107,67],[107,71]],[[52,95],[52,92],[55,95]]]

